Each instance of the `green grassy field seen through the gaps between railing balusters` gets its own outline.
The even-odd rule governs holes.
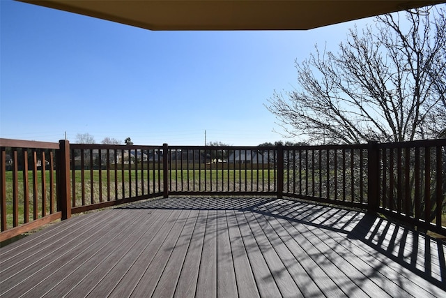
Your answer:
[[[70,172],[72,174],[72,172]],[[162,170],[84,170],[84,179],[82,179],[82,170],[76,170],[74,173],[74,183],[71,184],[73,203],[75,206],[83,204],[94,204],[100,201],[116,200],[122,198],[130,198],[136,195],[146,195],[151,193],[162,192],[163,188],[163,171]],[[288,174],[292,174],[288,173]],[[331,177],[333,174],[330,173]],[[168,184],[171,191],[275,191],[275,178],[277,173],[275,170],[171,170],[168,173]],[[311,175],[313,176],[313,175]],[[313,183],[309,181],[308,189],[305,188],[305,172],[302,172],[300,177],[302,183],[299,181],[288,181],[287,176],[284,177],[284,190],[293,190],[293,188],[305,190],[308,194],[313,193]],[[314,175],[314,192],[316,195],[325,197],[325,193],[319,193],[318,174]],[[54,173],[54,189],[56,185]],[[309,174],[309,179],[312,179]],[[36,181],[37,192],[34,197],[34,184]],[[109,181],[109,184],[107,183]],[[341,179],[338,179],[338,187],[341,188]],[[36,210],[38,217],[43,214],[43,198],[45,197],[45,212],[49,214],[50,210],[50,172],[45,172],[45,194],[43,194],[42,186],[42,172],[36,172],[36,177],[33,177],[33,172],[28,172],[29,195],[29,221],[33,220],[33,211]],[[327,184],[325,177],[321,182],[323,184],[323,192]],[[348,183],[348,181],[347,181]],[[331,185],[332,186],[332,185]],[[17,186],[13,185],[13,172],[6,172],[6,214],[7,225],[11,228],[13,225],[13,189],[17,187],[17,209],[18,209],[18,223],[25,222],[24,205],[26,198],[24,198],[24,177],[23,173],[19,172],[17,176]],[[346,186],[349,191],[350,186]],[[359,187],[355,186],[355,191]],[[330,188],[330,195],[334,191]],[[338,191],[338,199],[341,200],[342,193]],[[357,197],[358,194],[356,193]],[[53,198],[56,200],[56,193],[53,193]],[[350,200],[351,194],[346,195],[346,200]],[[34,201],[36,199],[36,204]],[[54,210],[56,209],[56,202],[54,202]],[[446,215],[443,215],[443,223],[446,225]]]

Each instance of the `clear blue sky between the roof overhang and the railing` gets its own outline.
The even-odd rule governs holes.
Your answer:
[[[297,87],[295,60],[336,50],[348,28],[148,31],[0,0],[0,137],[78,133],[134,144],[258,145],[282,137],[264,106]]]

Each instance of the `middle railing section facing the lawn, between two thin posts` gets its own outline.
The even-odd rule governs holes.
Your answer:
[[[170,195],[277,195],[277,147],[175,146]]]

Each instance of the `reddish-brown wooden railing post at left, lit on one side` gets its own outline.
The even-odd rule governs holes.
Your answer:
[[[70,142],[59,141],[57,157],[57,208],[62,212],[62,220],[71,217],[71,189],[70,189]]]

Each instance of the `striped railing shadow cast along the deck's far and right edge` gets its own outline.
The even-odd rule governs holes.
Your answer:
[[[446,290],[445,242],[372,214],[272,198],[168,198],[120,208],[249,211],[346,234],[348,239],[359,240],[372,248],[374,258],[390,258],[401,267]],[[380,268],[374,270],[379,271]]]

